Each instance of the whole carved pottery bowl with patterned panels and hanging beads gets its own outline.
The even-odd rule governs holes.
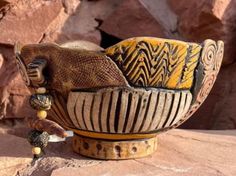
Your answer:
[[[106,49],[85,41],[15,46],[38,111],[30,126],[61,137],[72,130],[74,151],[99,159],[152,154],[157,134],[182,124],[206,99],[223,50],[222,41],[154,37]]]

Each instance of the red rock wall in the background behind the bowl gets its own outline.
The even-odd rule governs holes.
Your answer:
[[[0,0],[0,118],[32,116],[13,45],[85,39],[107,47],[154,36],[225,42],[223,67],[206,102],[183,128],[236,128],[236,1]]]

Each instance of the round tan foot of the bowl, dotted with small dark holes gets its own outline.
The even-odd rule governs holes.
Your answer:
[[[157,137],[135,140],[102,140],[73,137],[73,150],[83,156],[96,159],[122,160],[148,156],[157,149]]]

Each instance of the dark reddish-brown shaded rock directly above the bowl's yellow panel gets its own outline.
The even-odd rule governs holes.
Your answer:
[[[164,28],[139,1],[126,0],[105,19],[101,30],[126,39],[135,36],[165,37]]]

